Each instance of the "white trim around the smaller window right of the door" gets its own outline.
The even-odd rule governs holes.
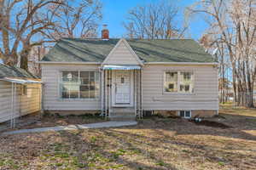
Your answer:
[[[177,71],[177,92],[166,92],[165,91],[165,83],[166,83],[166,72],[167,71],[171,71],[171,72],[175,72]],[[179,88],[180,88],[180,72],[183,72],[183,71],[190,71],[192,72],[192,84],[193,84],[193,91],[192,92],[180,92],[179,91]],[[163,94],[184,94],[184,95],[190,95],[190,94],[195,94],[195,71],[192,71],[192,70],[165,70],[163,71],[163,84],[162,84],[162,91],[163,91]]]

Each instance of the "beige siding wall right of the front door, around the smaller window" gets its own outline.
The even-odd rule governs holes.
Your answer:
[[[193,71],[193,94],[164,94],[164,71]],[[212,65],[145,65],[144,110],[218,110],[218,69]]]

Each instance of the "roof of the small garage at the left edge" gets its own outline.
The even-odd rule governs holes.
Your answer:
[[[0,64],[0,78],[3,77],[38,78],[18,67]]]

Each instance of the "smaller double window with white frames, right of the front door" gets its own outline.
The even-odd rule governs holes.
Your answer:
[[[194,76],[192,71],[165,71],[164,92],[193,93]]]

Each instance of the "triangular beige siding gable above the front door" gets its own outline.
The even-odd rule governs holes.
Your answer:
[[[120,42],[117,47],[113,49],[113,53],[109,54],[106,65],[138,65],[136,57],[131,53],[125,42]]]

